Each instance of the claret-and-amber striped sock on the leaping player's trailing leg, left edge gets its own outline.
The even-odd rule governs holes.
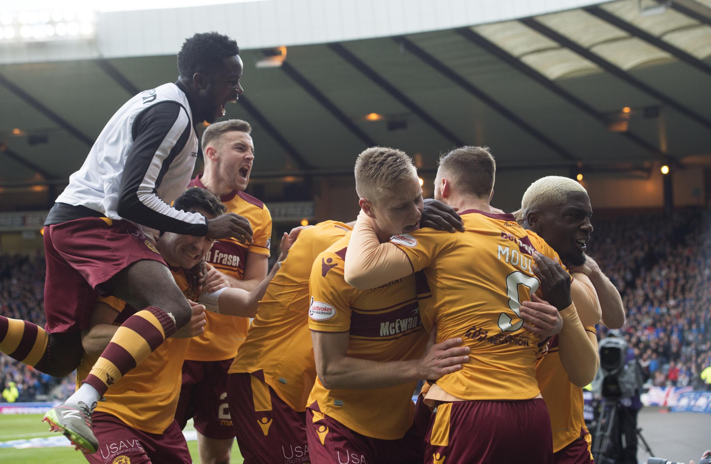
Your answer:
[[[0,316],[0,352],[23,364],[45,371],[49,335],[42,327],[19,319]]]

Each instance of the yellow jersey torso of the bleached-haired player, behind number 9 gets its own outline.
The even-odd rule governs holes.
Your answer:
[[[594,326],[586,326],[585,330],[595,333]],[[535,378],[548,406],[553,430],[553,453],[557,453],[580,438],[581,429],[587,431],[582,389],[570,383],[560,363],[557,335],[548,340],[544,352],[538,357]]]

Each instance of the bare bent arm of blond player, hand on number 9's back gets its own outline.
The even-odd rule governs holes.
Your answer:
[[[326,389],[366,390],[407,384],[420,379],[436,380],[459,371],[469,361],[469,347],[461,338],[434,344],[435,331],[420,359],[378,362],[346,356],[348,332],[311,331],[319,381]]]

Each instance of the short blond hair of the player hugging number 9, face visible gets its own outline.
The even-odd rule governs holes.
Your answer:
[[[355,160],[355,191],[360,198],[377,203],[397,182],[417,177],[412,159],[402,150],[390,147],[371,147],[363,150]]]

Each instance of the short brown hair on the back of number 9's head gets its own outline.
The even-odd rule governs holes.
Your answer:
[[[439,159],[436,184],[445,177],[462,194],[488,199],[496,179],[496,161],[488,147],[459,147]]]

